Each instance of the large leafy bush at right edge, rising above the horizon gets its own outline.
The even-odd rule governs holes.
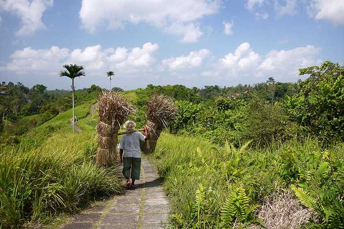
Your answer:
[[[291,119],[323,140],[343,140],[344,66],[324,62],[321,66],[301,69],[300,75],[310,77],[286,101]]]

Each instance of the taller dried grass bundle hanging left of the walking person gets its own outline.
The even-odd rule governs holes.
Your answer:
[[[136,109],[118,93],[103,91],[98,98],[97,111],[99,123],[98,148],[96,161],[101,166],[108,166],[116,159],[117,133],[124,118]]]

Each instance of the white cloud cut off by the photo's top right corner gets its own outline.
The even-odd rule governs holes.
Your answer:
[[[344,25],[343,0],[311,0],[307,10],[315,19],[328,20],[334,25]]]

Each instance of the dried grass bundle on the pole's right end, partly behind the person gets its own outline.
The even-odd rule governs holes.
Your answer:
[[[177,112],[172,99],[166,95],[154,95],[147,103],[148,140],[141,143],[141,150],[144,153],[152,153],[155,150],[156,142],[168,120],[172,119]]]

